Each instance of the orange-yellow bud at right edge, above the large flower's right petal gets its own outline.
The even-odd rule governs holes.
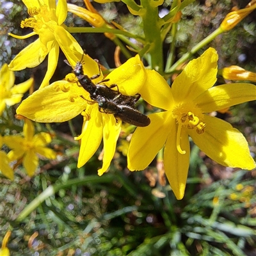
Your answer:
[[[223,68],[222,76],[229,80],[248,80],[256,82],[256,73],[250,72],[239,66]]]

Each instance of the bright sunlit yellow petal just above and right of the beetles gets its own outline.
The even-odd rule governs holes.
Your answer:
[[[135,95],[138,93],[145,83],[146,74],[140,56],[127,60],[123,65],[113,70],[106,79],[109,82],[106,84],[117,84],[118,89],[124,95]]]

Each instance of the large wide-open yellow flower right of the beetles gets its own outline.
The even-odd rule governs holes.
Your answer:
[[[256,99],[253,84],[214,86],[218,54],[212,48],[188,63],[169,88],[164,81],[145,82],[141,93],[150,104],[167,111],[149,115],[151,123],[134,132],[128,152],[129,170],[143,170],[164,146],[164,169],[177,199],[182,199],[189,168],[189,136],[214,161],[224,166],[252,170],[243,134],[219,118],[205,115],[211,111]],[[152,86],[154,85],[154,86]],[[157,88],[159,99],[156,98]],[[163,93],[162,93],[163,91]]]

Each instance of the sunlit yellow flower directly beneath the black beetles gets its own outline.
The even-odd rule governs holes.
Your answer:
[[[87,67],[86,61],[83,62],[83,67]],[[97,72],[99,69],[96,69],[95,74]],[[84,74],[86,73],[84,72]],[[99,175],[102,175],[108,170],[115,154],[116,140],[122,122],[120,120],[116,122],[113,114],[100,112],[98,104],[92,102],[89,93],[82,86],[74,83],[77,81],[74,79],[74,74],[66,76],[66,79],[72,83],[57,81],[34,92],[20,104],[17,114],[36,122],[64,122],[82,113],[84,116],[83,129],[81,135],[76,138],[76,140],[81,139],[77,166],[83,166],[95,154],[103,138],[103,164],[98,171]],[[140,92],[145,82],[145,68],[140,56],[137,55],[129,59],[111,72],[106,79],[109,81],[104,84],[108,86],[118,84],[118,90],[124,95],[135,95]]]

